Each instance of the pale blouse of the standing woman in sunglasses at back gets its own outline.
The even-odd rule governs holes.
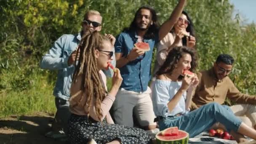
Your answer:
[[[175,33],[169,32],[161,41],[158,43],[157,46],[157,56],[155,60],[155,67],[153,74],[158,71],[158,69],[163,65],[165,62],[166,57],[168,56],[168,48],[174,43],[175,40]],[[179,41],[177,46],[182,46],[182,40]]]

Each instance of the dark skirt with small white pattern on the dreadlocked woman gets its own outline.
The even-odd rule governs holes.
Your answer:
[[[69,119],[68,136],[71,144],[86,144],[94,139],[97,144],[119,140],[121,144],[150,144],[146,131],[125,125],[102,123],[90,117],[72,114]]]

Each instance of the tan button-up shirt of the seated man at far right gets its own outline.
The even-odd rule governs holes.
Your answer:
[[[199,72],[197,76],[199,84],[192,99],[192,109],[213,101],[224,104],[226,97],[237,103],[256,104],[256,96],[240,93],[229,77],[218,80],[213,68]]]

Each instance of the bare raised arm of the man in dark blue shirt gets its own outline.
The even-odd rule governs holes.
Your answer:
[[[186,0],[179,0],[178,5],[176,5],[169,19],[161,25],[159,29],[159,40],[162,40],[165,37],[165,35],[167,35],[168,32],[171,31],[174,24],[178,21],[179,16],[181,16],[181,13],[183,11],[185,4],[186,4]]]

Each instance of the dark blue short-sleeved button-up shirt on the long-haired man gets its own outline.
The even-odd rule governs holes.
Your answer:
[[[127,91],[144,92],[147,90],[149,80],[151,78],[151,61],[152,53],[155,44],[158,43],[158,32],[155,34],[154,39],[145,39],[144,43],[148,43],[150,51],[146,51],[144,55],[139,56],[134,61],[120,68],[123,82],[120,88]],[[117,36],[115,42],[115,52],[123,53],[127,56],[128,53],[134,48],[134,44],[138,42],[136,32],[122,32]]]

